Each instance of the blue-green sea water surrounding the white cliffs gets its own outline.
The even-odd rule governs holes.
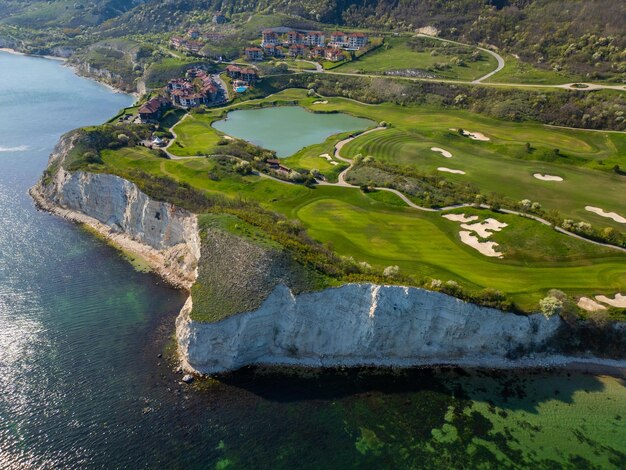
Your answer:
[[[26,193],[63,132],[131,102],[0,53],[0,468],[626,467],[618,377],[249,368],[181,385],[184,297]]]

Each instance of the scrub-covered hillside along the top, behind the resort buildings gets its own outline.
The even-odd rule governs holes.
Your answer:
[[[270,26],[340,25],[382,32],[429,26],[442,37],[493,45],[545,70],[618,81],[626,74],[626,4],[612,0],[324,0],[314,5],[304,0],[8,0],[0,5],[0,26],[37,30],[22,38],[26,42],[44,34],[55,45],[80,46],[103,37],[211,26],[218,10],[228,24],[217,29],[235,28],[245,39]],[[6,36],[0,27],[0,39]]]

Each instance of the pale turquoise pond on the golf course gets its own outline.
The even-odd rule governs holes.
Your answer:
[[[374,124],[369,119],[349,114],[312,113],[299,106],[282,106],[233,111],[213,123],[213,127],[232,137],[275,150],[278,157],[288,157],[333,134],[364,130]]]

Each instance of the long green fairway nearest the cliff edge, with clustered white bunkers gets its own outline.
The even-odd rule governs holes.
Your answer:
[[[300,219],[313,238],[331,244],[342,256],[369,263],[375,271],[398,265],[402,273],[418,279],[428,276],[455,280],[470,289],[496,288],[527,310],[535,308],[551,288],[572,295],[626,289],[626,256],[517,216],[476,212],[509,224],[493,236],[505,257],[486,258],[460,242],[458,223],[443,219],[440,213],[395,205],[389,199],[394,195],[381,202],[356,189],[309,189],[254,175],[244,177],[231,170],[229,161],[168,160],[142,148],[107,150],[103,159],[105,171],[122,176],[142,170],[206,192],[258,201]]]

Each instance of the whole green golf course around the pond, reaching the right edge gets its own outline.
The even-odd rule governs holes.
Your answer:
[[[270,103],[293,105],[294,100],[309,111],[368,119],[355,121],[365,127],[321,137],[320,142],[282,159],[289,168],[315,170],[328,184],[307,187],[263,172],[241,174],[234,170],[236,157],[220,156],[224,141],[242,138],[226,136],[213,126],[228,119],[227,112],[265,106],[262,119],[267,121],[272,119],[272,109],[280,109],[267,109]],[[302,113],[305,121],[299,125],[306,127],[307,115],[316,116]],[[254,126],[253,114],[248,114],[247,120]],[[333,185],[339,172],[349,167],[338,160],[336,143],[382,121],[384,129],[347,142],[340,156],[369,157],[383,165],[424,172],[439,182],[471,183],[481,194],[496,192],[512,200],[528,199],[594,227],[610,227],[622,234],[626,228],[586,209],[594,206],[626,215],[620,196],[626,177],[612,170],[615,165],[626,167],[626,136],[621,133],[502,122],[466,111],[322,100],[307,97],[303,90],[287,90],[228,110],[190,114],[173,127],[176,138],[169,151],[178,155],[176,159],[161,158],[143,147],[105,150],[104,166],[98,171],[129,179],[137,179],[137,174],[166,176],[206,194],[254,201],[299,220],[314,240],[340,256],[364,263],[371,272],[397,266],[402,276],[422,285],[434,279],[454,281],[472,291],[497,289],[525,311],[536,309],[550,289],[571,296],[614,296],[626,291],[626,253],[616,248],[559,233],[518,215],[474,207],[418,210],[387,191],[363,192]],[[282,127],[280,119],[273,125]],[[293,123],[290,126],[292,129]],[[280,138],[280,132],[276,136]],[[558,153],[554,151],[557,145]],[[271,149],[271,139],[266,146]],[[437,171],[442,166],[465,174]],[[542,180],[536,174],[559,176],[562,181]],[[462,214],[473,224],[490,223],[491,219],[504,228],[492,232],[476,225],[465,228],[467,224],[461,227],[442,217],[446,214]],[[473,235],[462,235],[464,230],[474,230]],[[486,256],[467,242],[468,237],[479,247],[493,243],[501,256]]]

